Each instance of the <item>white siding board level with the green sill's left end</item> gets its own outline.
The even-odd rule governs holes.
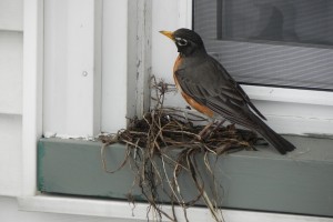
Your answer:
[[[20,193],[21,138],[21,117],[0,114],[0,195]]]

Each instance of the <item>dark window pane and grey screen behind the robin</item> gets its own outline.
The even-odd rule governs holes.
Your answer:
[[[241,83],[333,90],[332,0],[194,0],[193,27]]]

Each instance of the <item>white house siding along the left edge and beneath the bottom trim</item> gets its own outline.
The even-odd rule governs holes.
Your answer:
[[[0,221],[125,222],[18,210],[22,172],[23,0],[0,0]]]

